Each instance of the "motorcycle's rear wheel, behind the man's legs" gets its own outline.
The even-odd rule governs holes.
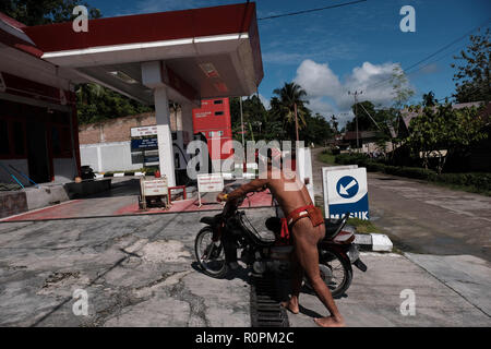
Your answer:
[[[323,251],[319,269],[321,278],[331,290],[333,298],[342,297],[351,285],[352,268],[349,260],[337,251]],[[309,279],[304,277],[304,285],[313,290]]]

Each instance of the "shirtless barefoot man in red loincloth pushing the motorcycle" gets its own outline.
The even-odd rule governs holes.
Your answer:
[[[319,269],[318,243],[325,234],[322,213],[313,206],[306,185],[297,179],[295,173],[275,170],[279,172],[279,176],[272,176],[272,166],[268,164],[267,176],[262,173],[263,176],[260,176],[259,179],[243,184],[229,194],[220,193],[217,200],[231,201],[255,190],[270,189],[282,207],[285,217],[287,217],[288,229],[294,239],[291,298],[289,301],[283,302],[282,305],[294,314],[298,314],[298,298],[304,272],[319,299],[331,313],[331,316],[314,318],[314,322],[323,327],[345,326],[344,318],[337,310],[330,289],[322,280]],[[275,179],[277,177],[279,178]]]

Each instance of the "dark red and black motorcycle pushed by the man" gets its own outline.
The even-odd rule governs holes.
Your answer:
[[[228,188],[228,192],[231,191]],[[230,256],[237,256],[251,267],[255,274],[262,275],[275,268],[282,261],[288,261],[291,245],[278,244],[282,230],[279,217],[268,217],[265,222],[253,224],[239,206],[254,192],[235,202],[227,202],[224,210],[213,217],[203,217],[206,226],[200,230],[194,242],[194,252],[202,270],[214,278],[224,278],[229,269]],[[339,297],[351,285],[355,265],[366,272],[367,265],[361,262],[355,240],[356,228],[347,226],[349,213],[339,219],[325,219],[325,237],[318,244],[319,267],[321,278],[331,289],[333,297]],[[256,229],[265,226],[267,229]],[[228,253],[227,253],[228,251]],[[285,265],[285,264],[283,264]],[[304,285],[312,289],[309,280]]]

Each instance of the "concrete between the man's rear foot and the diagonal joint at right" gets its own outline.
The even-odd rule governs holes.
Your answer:
[[[491,326],[489,313],[410,258],[393,253],[362,253],[361,260],[368,265],[368,270],[362,273],[355,268],[351,287],[342,299],[336,300],[347,326]],[[400,312],[407,299],[402,298],[403,290],[414,291],[415,315],[403,315]],[[489,288],[486,296],[489,296]],[[312,317],[327,315],[323,304],[312,293],[301,293],[300,305],[299,314],[288,313],[294,327],[314,327]]]

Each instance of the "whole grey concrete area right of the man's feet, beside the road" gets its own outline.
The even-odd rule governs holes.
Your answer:
[[[491,267],[487,261],[472,256],[372,252],[362,253],[361,260],[368,270],[354,268],[350,288],[336,300],[347,326],[491,326]],[[463,278],[472,278],[475,284],[458,280]],[[414,291],[415,315],[400,312],[407,300],[402,298],[403,290]],[[288,313],[294,327],[314,327],[312,317],[327,315],[311,292],[300,294],[300,305],[299,314]]]

